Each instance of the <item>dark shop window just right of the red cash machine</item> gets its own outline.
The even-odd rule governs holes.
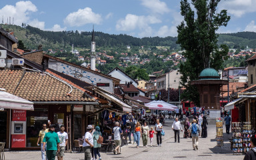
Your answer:
[[[48,123],[47,108],[35,108],[34,111],[27,111],[27,147],[37,147],[37,139],[39,131],[43,129],[43,123]]]

